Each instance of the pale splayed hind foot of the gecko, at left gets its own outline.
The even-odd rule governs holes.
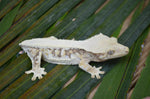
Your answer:
[[[47,73],[44,71],[45,68],[38,68],[38,69],[31,69],[29,71],[26,71],[26,74],[30,74],[33,73],[33,77],[32,77],[32,81],[36,80],[36,78],[38,77],[38,79],[42,79],[42,75],[46,75]]]

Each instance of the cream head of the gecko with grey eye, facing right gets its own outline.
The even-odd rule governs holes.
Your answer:
[[[100,54],[99,58],[100,59],[113,59],[113,58],[118,58],[118,57],[122,57],[125,56],[129,53],[129,48],[119,44],[117,42],[117,38],[111,37],[109,38],[109,41],[107,43],[105,43],[106,47],[104,50],[103,54]]]

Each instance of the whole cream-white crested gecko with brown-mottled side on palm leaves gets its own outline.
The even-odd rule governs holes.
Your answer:
[[[54,36],[25,40],[19,44],[32,62],[32,69],[26,74],[33,73],[32,80],[42,78],[46,72],[41,68],[41,59],[49,63],[75,65],[91,74],[92,78],[100,79],[101,66],[96,68],[90,61],[102,62],[108,59],[122,57],[129,52],[128,47],[121,45],[114,37],[102,33],[86,40],[64,40]]]

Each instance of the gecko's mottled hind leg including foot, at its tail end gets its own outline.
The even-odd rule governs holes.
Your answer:
[[[26,74],[33,73],[32,81],[38,79],[42,79],[42,75],[46,75],[46,72],[44,71],[45,68],[41,68],[41,57],[42,52],[39,49],[36,48],[29,48],[27,49],[27,55],[30,57],[32,62],[32,69],[29,71],[26,71]]]

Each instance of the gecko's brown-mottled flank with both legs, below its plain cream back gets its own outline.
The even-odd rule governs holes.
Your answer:
[[[90,73],[92,78],[96,76],[98,79],[100,79],[99,74],[104,74],[104,71],[100,71],[101,67],[96,68],[95,66],[92,67],[91,65],[89,65],[90,61],[102,61],[99,59],[100,54],[96,55],[91,52],[84,51],[83,49],[39,49],[29,47],[26,52],[32,61],[32,70],[26,71],[26,74],[33,73],[33,81],[36,79],[36,77],[38,77],[38,79],[41,79],[42,75],[46,75],[46,72],[44,71],[45,69],[40,67],[41,58],[46,62],[56,64],[79,64],[79,67],[84,71]],[[67,61],[64,63],[65,60]]]

